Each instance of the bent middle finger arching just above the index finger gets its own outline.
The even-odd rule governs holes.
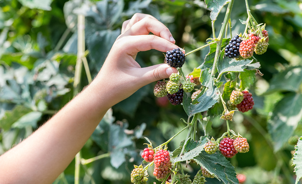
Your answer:
[[[144,17],[142,20],[130,27],[124,35],[147,35],[152,32],[156,36],[160,36],[165,40],[175,43],[175,40],[169,29],[156,19]]]

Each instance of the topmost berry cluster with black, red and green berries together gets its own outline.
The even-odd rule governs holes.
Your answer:
[[[229,41],[229,44],[226,45],[224,49],[224,56],[231,59],[235,58],[237,60],[248,59],[253,56],[254,51],[256,54],[265,53],[267,47],[267,30],[262,30],[261,34],[249,33],[246,38],[236,35]]]

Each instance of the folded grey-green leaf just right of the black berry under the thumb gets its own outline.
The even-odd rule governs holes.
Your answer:
[[[191,104],[191,97],[188,97],[184,93],[184,102],[183,108],[189,117],[193,116],[196,113],[201,113],[208,110],[215,103],[217,103],[217,99],[219,98],[217,87],[210,86],[201,97],[198,98],[198,104]]]

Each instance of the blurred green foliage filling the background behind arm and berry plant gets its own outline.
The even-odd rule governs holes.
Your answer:
[[[248,139],[250,151],[236,155],[230,162],[237,173],[246,175],[246,184],[294,183],[294,146],[287,140],[302,135],[302,1],[249,0],[249,5],[258,22],[267,25],[269,47],[265,54],[254,58],[264,74],[256,75],[249,89],[254,109],[235,113],[230,124],[231,129]],[[223,8],[215,21],[216,35],[225,11]],[[162,21],[176,44],[187,52],[213,37],[210,10],[201,0],[0,1],[0,154],[29,136],[72,99],[77,15],[85,15],[86,57],[91,75],[95,76],[120,34],[123,21],[136,12]],[[231,13],[233,35],[244,31],[245,25],[239,19],[246,17],[244,2],[235,1]],[[189,55],[184,73],[201,65],[208,52],[206,48]],[[163,59],[163,54],[155,50],[137,56],[142,67],[162,63]],[[84,70],[81,75],[82,88],[88,80]],[[130,183],[133,164],[142,162],[140,153],[146,143],[143,137],[157,146],[185,127],[181,118],[187,119],[187,115],[182,106],[156,98],[154,84],[146,85],[108,111],[82,149],[82,157],[110,155],[83,165],[80,183]],[[214,138],[226,131],[219,118],[219,109],[214,116],[208,116]],[[197,135],[201,136],[199,126]],[[183,132],[171,141],[169,150],[178,148],[185,135]],[[54,183],[73,183],[74,165],[72,162]],[[200,168],[190,164],[186,169],[192,178]],[[152,183],[152,170],[149,173],[148,183]],[[217,179],[207,180],[219,183]]]

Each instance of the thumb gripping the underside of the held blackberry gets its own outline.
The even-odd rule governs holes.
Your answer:
[[[172,73],[177,73],[176,68],[170,67],[168,64],[153,65],[145,68],[140,68],[140,76],[143,85],[158,81],[164,78],[169,78]]]

